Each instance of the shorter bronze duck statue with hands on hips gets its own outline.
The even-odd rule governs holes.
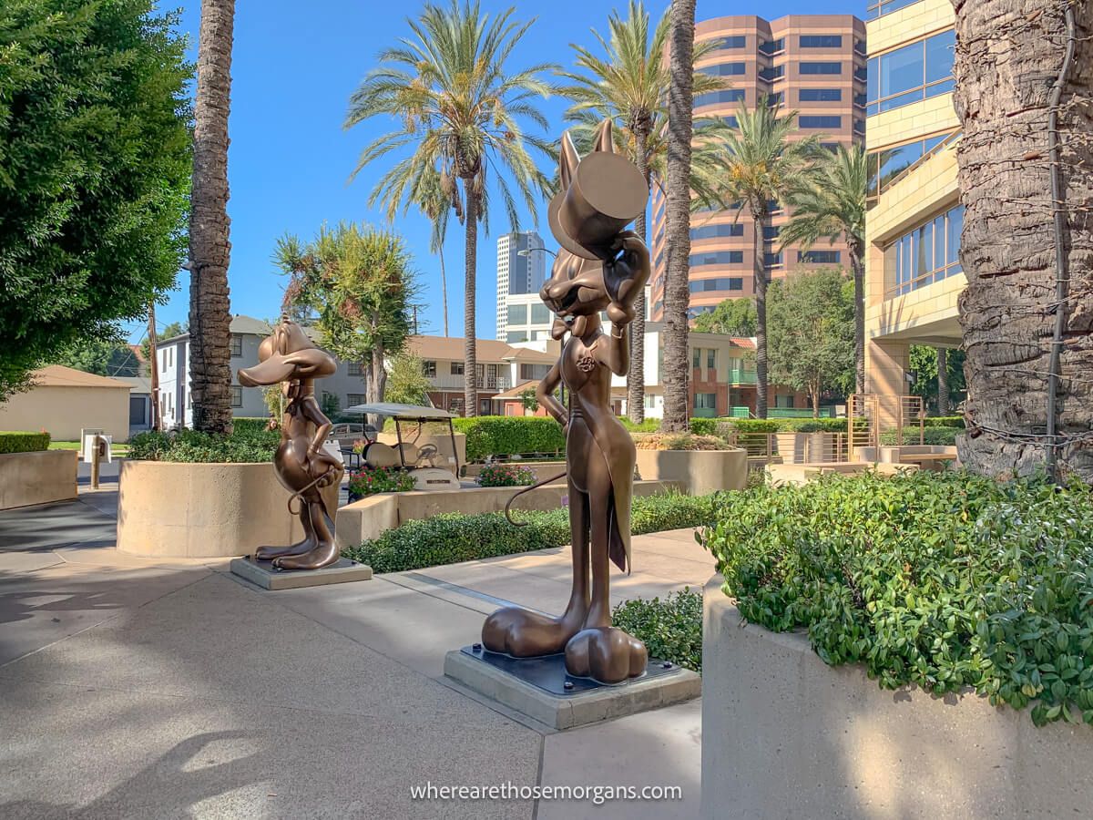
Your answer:
[[[255,558],[272,561],[279,570],[320,570],[339,558],[333,537],[336,511],[327,509],[321,491],[341,482],[344,467],[322,448],[330,420],[315,400],[315,379],[332,374],[338,362],[287,319],[262,340],[258,359],[254,367],[239,371],[239,384],[258,387],[281,383],[289,403],[281,419],[281,445],[273,467],[285,489],[301,500],[304,540],[289,547],[261,547]]]

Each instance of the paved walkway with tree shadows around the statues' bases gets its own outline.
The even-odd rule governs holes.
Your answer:
[[[116,492],[0,513],[0,817],[693,818],[697,701],[565,733],[443,677],[567,550],[267,593],[113,549]],[[634,539],[616,600],[701,586],[690,530]],[[437,786],[681,786],[682,800],[412,800]]]

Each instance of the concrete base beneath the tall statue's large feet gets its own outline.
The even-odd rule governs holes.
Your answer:
[[[557,695],[461,649],[453,649],[445,656],[444,673],[468,689],[555,729],[571,729],[648,712],[702,694],[702,678],[690,669],[675,668],[671,673]]]

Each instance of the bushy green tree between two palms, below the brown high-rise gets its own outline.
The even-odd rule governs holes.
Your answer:
[[[854,283],[837,268],[798,271],[769,290],[771,376],[820,397],[854,386]]]

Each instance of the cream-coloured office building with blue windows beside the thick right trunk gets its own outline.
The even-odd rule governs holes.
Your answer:
[[[871,0],[868,16],[866,393],[888,424],[909,393],[910,345],[961,343],[955,15],[949,0]]]

